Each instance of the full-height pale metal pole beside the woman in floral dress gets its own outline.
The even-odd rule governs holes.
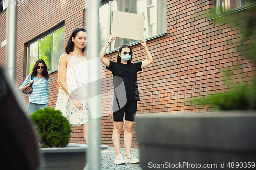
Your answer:
[[[86,6],[87,59],[91,60],[99,57],[99,1],[87,0]],[[99,66],[98,62],[90,62],[88,70],[89,82],[100,79]],[[100,96],[95,95],[95,92],[98,91],[100,91],[99,83],[88,84],[88,96],[94,96],[92,103],[94,112],[91,113],[94,115],[100,115]],[[100,118],[92,119],[91,114],[89,114],[88,122],[88,166],[89,169],[100,169]]]

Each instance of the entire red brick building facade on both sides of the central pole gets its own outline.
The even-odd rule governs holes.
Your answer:
[[[203,14],[214,8],[212,0],[180,0],[166,2],[167,31],[165,35],[147,41],[154,62],[138,74],[140,101],[137,114],[165,114],[210,111],[208,107],[191,106],[189,98],[206,96],[228,90],[222,71],[230,70],[229,81],[250,82],[255,75],[254,65],[239,52],[238,35],[228,23],[217,25]],[[245,11],[246,12],[246,11]],[[26,43],[64,21],[65,44],[76,27],[84,27],[84,1],[29,1],[18,7],[17,16],[17,88],[26,77]],[[6,39],[6,10],[0,13],[0,42]],[[227,40],[231,40],[227,42]],[[251,40],[248,40],[250,43]],[[132,62],[145,60],[140,44],[131,46]],[[116,51],[106,55],[116,61]],[[0,48],[0,65],[5,67],[5,46]],[[241,64],[242,67],[238,67]],[[112,93],[108,92],[112,74],[104,67],[102,82],[101,140],[113,146]],[[57,71],[50,73],[49,107],[55,107],[59,84]],[[23,94],[25,103],[28,95]],[[132,147],[137,148],[136,121]],[[123,131],[121,140],[123,139]],[[73,126],[70,142],[83,143],[81,126]],[[123,147],[121,141],[121,147]]]

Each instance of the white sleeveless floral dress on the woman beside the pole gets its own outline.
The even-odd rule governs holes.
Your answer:
[[[72,54],[71,54],[72,55]],[[66,83],[68,88],[82,103],[83,110],[75,107],[73,99],[60,86],[55,110],[60,110],[70,124],[79,125],[88,122],[89,106],[86,100],[87,89],[87,59],[83,56],[71,56],[66,68]]]

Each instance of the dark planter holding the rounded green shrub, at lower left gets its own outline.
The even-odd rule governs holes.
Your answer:
[[[40,148],[42,160],[40,170],[83,170],[86,166],[86,151],[88,146],[85,144],[69,143],[65,148]],[[101,145],[101,150],[108,148]]]

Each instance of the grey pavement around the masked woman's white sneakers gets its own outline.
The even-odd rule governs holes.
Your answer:
[[[121,154],[125,155],[125,149],[121,148]],[[136,158],[140,158],[139,149],[132,148],[131,154],[134,155]],[[140,163],[132,164],[132,163],[126,163],[125,165],[116,165],[114,164],[114,161],[116,159],[116,151],[114,147],[108,147],[106,150],[101,151],[101,169],[142,169],[140,167]],[[85,168],[88,170],[88,165]]]

